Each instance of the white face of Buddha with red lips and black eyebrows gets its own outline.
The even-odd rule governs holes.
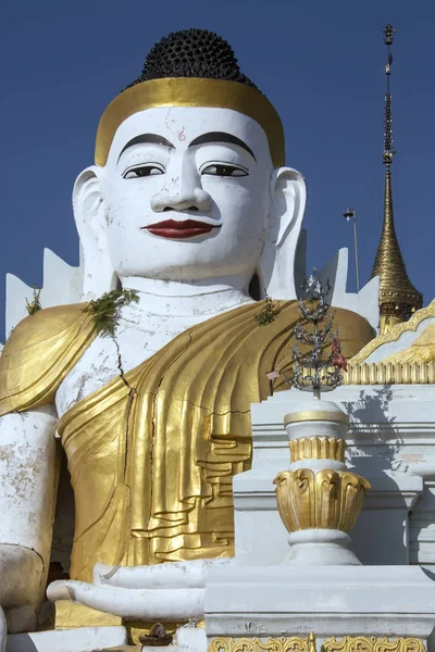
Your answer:
[[[121,279],[249,283],[271,204],[266,136],[228,109],[159,108],[119,127],[103,168],[111,263]]]

